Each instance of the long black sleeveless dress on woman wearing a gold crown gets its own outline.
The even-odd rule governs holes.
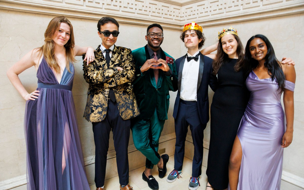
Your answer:
[[[210,146],[206,174],[216,189],[228,187],[228,164],[249,92],[244,71],[234,71],[237,59],[228,59],[219,69],[218,88],[211,104]]]

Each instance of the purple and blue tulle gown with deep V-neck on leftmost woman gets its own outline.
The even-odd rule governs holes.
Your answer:
[[[71,73],[60,84],[46,60],[37,71],[39,98],[26,102],[28,190],[89,190],[78,133]]]

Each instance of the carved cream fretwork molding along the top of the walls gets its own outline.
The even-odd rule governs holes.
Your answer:
[[[119,22],[182,29],[304,12],[303,0],[0,0],[0,9],[85,19],[112,16]]]

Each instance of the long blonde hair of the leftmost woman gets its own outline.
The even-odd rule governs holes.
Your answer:
[[[57,73],[60,73],[60,66],[57,63],[57,57],[55,56],[55,44],[53,41],[54,36],[57,34],[60,23],[64,22],[71,28],[70,39],[64,45],[65,47],[65,56],[66,56],[66,68],[67,71],[70,71],[70,63],[74,63],[76,60],[74,58],[74,51],[73,48],[75,46],[74,41],[74,33],[73,33],[73,26],[71,22],[65,16],[56,16],[53,18],[47,29],[44,33],[44,44],[43,46],[38,48],[39,57],[43,54],[44,59],[47,61],[49,66],[54,69]]]

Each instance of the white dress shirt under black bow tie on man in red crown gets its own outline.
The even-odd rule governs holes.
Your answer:
[[[187,53],[188,57],[194,57],[199,54],[199,51],[194,55]],[[186,101],[197,101],[197,80],[199,78],[199,59],[195,61],[194,59],[187,61],[185,58],[185,63],[181,75],[181,95],[180,98]]]

